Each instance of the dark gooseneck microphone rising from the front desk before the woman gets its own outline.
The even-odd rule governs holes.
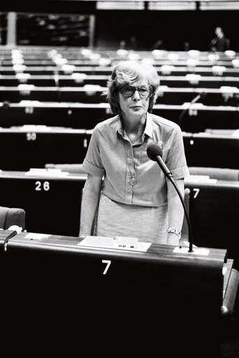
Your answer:
[[[175,190],[177,191],[177,193],[180,197],[180,200],[182,202],[182,206],[184,209],[184,213],[185,213],[185,216],[187,219],[187,226],[189,228],[189,252],[194,252],[194,250],[193,250],[194,240],[193,240],[193,235],[192,235],[192,230],[191,230],[191,223],[189,220],[189,214],[187,213],[187,208],[186,208],[184,200],[182,198],[182,194],[181,194],[177,184],[175,183],[175,180],[173,179],[173,174],[171,173],[171,171],[168,169],[168,167],[164,163],[162,154],[163,154],[163,151],[161,150],[160,146],[158,146],[157,144],[150,144],[150,146],[147,147],[147,156],[151,160],[154,160],[154,162],[157,162],[159,164],[159,167],[161,167],[161,170],[164,172],[166,177],[168,177],[168,179],[171,181],[171,183],[175,187]]]

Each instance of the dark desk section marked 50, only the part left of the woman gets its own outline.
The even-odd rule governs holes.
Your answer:
[[[1,170],[43,168],[46,163],[82,163],[91,132],[71,128],[0,128]]]

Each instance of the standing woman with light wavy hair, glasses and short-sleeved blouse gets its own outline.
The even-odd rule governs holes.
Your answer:
[[[188,168],[182,132],[177,124],[151,113],[158,88],[159,76],[152,66],[122,61],[113,69],[107,96],[115,116],[96,125],[82,165],[87,181],[80,236],[129,236],[178,245],[182,202],[146,151],[150,144],[161,146],[162,158],[184,195]]]

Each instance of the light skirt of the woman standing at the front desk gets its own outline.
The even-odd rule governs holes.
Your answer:
[[[166,243],[168,205],[145,207],[126,205],[101,193],[94,235],[138,237],[139,241]]]

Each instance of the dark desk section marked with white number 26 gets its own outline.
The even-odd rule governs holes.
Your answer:
[[[0,172],[0,183],[1,205],[22,207],[27,231],[78,236],[84,176]]]

